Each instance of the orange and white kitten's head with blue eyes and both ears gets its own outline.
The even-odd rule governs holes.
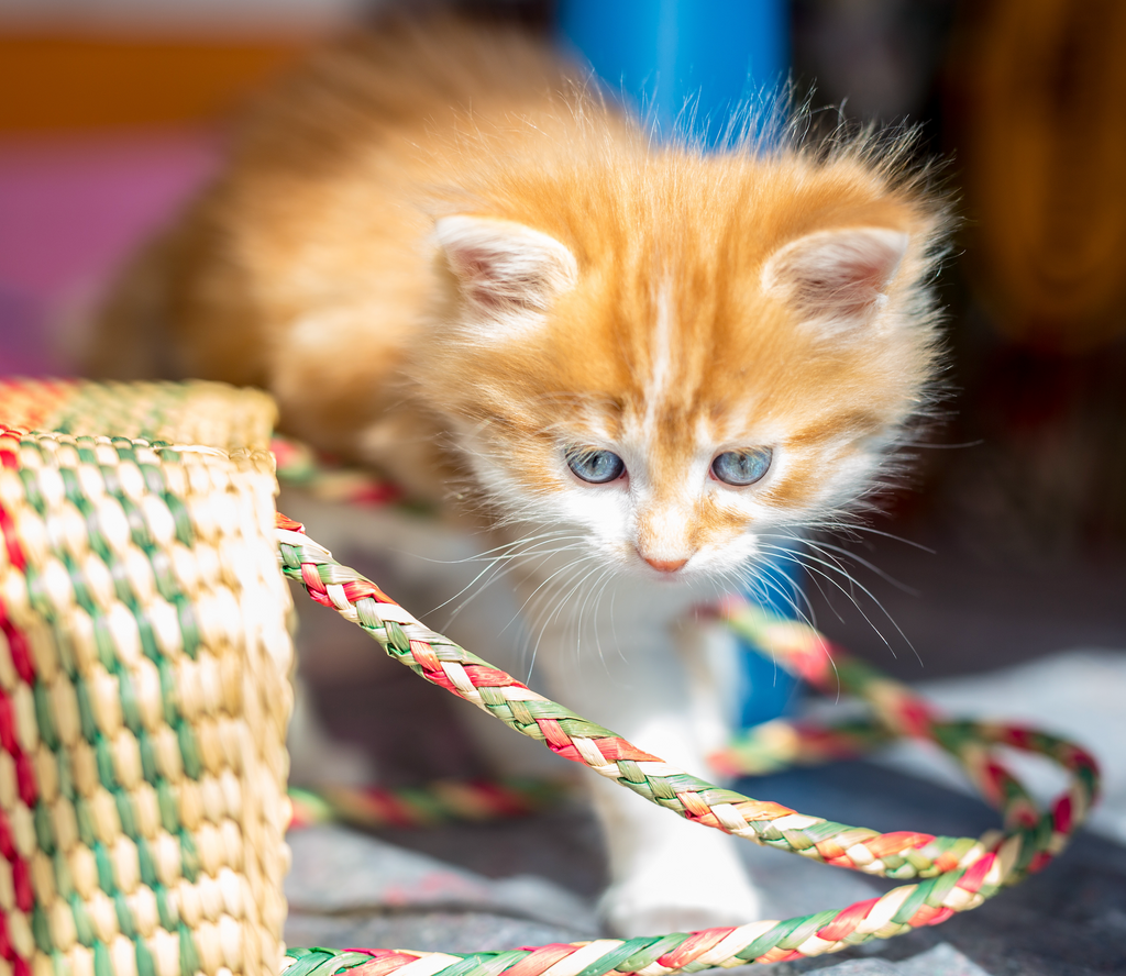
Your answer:
[[[941,214],[858,153],[627,162],[437,221],[419,379],[500,519],[730,575],[864,496],[924,405]]]

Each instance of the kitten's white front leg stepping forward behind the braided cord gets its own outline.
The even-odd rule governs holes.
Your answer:
[[[555,696],[584,718],[624,735],[640,749],[705,776],[705,753],[689,702],[688,673],[678,653],[672,620],[674,593],[631,606],[628,593],[613,602],[614,620],[588,623],[601,635],[577,654],[574,632],[548,626],[539,656]],[[654,607],[661,610],[654,614]],[[662,612],[662,610],[664,612]],[[599,616],[602,619],[597,619]],[[609,635],[616,634],[617,646]],[[589,630],[588,630],[589,637]],[[717,706],[718,707],[718,706]],[[622,935],[741,924],[759,916],[759,896],[736,843],[720,831],[681,820],[597,774],[587,777],[605,830],[611,886],[601,910]]]

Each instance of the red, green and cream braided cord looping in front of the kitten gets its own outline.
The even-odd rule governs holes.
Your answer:
[[[839,682],[864,698],[870,720],[848,726],[771,727],[716,756],[730,771],[760,767],[783,740],[792,761],[856,754],[895,735],[938,743],[957,759],[986,800],[1003,812],[1006,830],[978,839],[911,831],[878,833],[806,816],[769,800],[722,789],[665,763],[614,732],[588,722],[476,655],[435,633],[373,582],[337,563],[303,527],[277,517],[283,572],[310,596],[358,624],[396,661],[494,715],[553,752],[589,765],[652,803],[697,823],[812,860],[895,879],[915,879],[842,910],[785,921],[678,932],[627,940],[555,943],[506,952],[412,952],[406,950],[294,949],[287,976],[332,976],[346,969],[364,976],[396,970],[411,976],[600,976],[616,971],[663,976],[713,966],[777,962],[834,952],[873,938],[935,925],[977,907],[1001,887],[1043,868],[1066,843],[1098,790],[1093,759],[1078,746],[1031,729],[973,722],[947,722],[911,691],[861,662],[831,648],[812,628],[729,603],[723,617],[780,663],[822,688]],[[830,656],[830,654],[832,656]],[[788,732],[786,731],[788,728]],[[775,747],[763,741],[776,740]],[[990,752],[995,744],[1038,752],[1071,772],[1069,789],[1042,812]]]

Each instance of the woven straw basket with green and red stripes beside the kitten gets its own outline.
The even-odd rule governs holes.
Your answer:
[[[282,965],[274,419],[213,384],[0,383],[0,974]]]

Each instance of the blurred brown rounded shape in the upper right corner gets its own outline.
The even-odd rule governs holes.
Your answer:
[[[1126,3],[975,0],[956,37],[974,288],[1026,347],[1102,344],[1126,326]]]

